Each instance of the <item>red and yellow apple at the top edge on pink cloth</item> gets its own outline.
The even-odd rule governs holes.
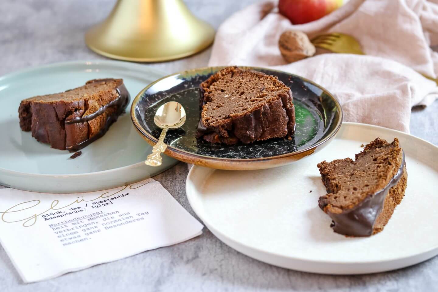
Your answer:
[[[317,20],[341,7],[343,0],[279,0],[281,14],[294,25]]]

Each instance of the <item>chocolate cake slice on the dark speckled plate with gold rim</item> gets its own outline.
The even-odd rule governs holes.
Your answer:
[[[226,67],[202,82],[197,138],[245,144],[290,138],[295,130],[292,92],[277,77]]]

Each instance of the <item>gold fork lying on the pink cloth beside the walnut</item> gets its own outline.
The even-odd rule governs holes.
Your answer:
[[[365,55],[365,53],[362,52],[357,39],[353,38],[351,35],[346,35],[339,32],[318,35],[311,40],[311,43],[315,47],[327,49],[333,53]],[[438,79],[424,74],[421,75],[427,79],[435,81],[435,83],[438,85]]]

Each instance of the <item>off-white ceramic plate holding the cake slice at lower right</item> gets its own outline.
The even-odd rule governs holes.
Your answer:
[[[318,207],[325,194],[318,162],[354,158],[376,137],[399,138],[408,186],[385,229],[346,238]],[[194,166],[186,182],[194,212],[215,236],[249,257],[299,271],[365,274],[417,264],[438,254],[438,147],[399,131],[343,123],[326,148],[291,165],[257,171]],[[312,192],[310,192],[312,191]]]

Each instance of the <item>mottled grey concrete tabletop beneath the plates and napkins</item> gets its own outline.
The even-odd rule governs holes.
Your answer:
[[[68,60],[103,57],[84,43],[87,28],[105,18],[115,0],[2,0],[0,76],[16,70]],[[254,0],[186,0],[198,17],[217,28],[234,11]],[[169,73],[205,66],[210,49],[195,56],[155,63]],[[413,109],[411,134],[438,144],[438,102]],[[193,213],[185,196],[187,165],[156,176]],[[433,236],[433,235],[425,235]],[[115,246],[115,248],[117,248]],[[0,291],[433,291],[438,258],[379,274],[331,276],[290,271],[253,260],[226,246],[208,229],[185,243],[101,264],[33,284],[23,284],[0,247]]]

